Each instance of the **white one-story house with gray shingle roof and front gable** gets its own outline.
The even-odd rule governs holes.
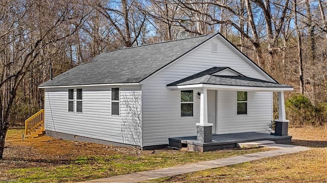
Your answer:
[[[124,48],[95,57],[39,86],[46,134],[62,139],[137,146],[172,137],[270,133],[287,136],[284,91],[220,34]]]

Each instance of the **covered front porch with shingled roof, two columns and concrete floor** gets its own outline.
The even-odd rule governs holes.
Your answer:
[[[284,103],[284,91],[293,90],[293,87],[291,86],[246,77],[228,67],[213,67],[189,77],[185,77],[182,80],[168,84],[167,87],[172,90],[180,90],[183,93],[190,91],[192,92],[195,90],[200,91],[197,93],[200,99],[200,108],[195,109],[199,110],[200,112],[199,122],[196,123],[197,136],[169,138],[169,143],[171,146],[179,147],[181,144],[187,144],[189,150],[207,151],[217,148],[235,147],[236,144],[240,142],[258,140],[271,140],[275,142],[277,141],[277,143],[291,142],[292,137],[288,136],[289,121],[286,119]],[[223,96],[228,95],[232,97],[229,97],[229,100],[220,97],[221,100],[219,100],[218,96],[220,96],[221,91],[224,93]],[[240,113],[238,108],[238,92],[244,92],[246,95],[245,99],[241,99],[240,101],[246,102],[245,104],[240,105],[243,106],[243,111],[240,111]],[[266,98],[263,101],[260,101],[262,99],[259,97],[264,95],[259,95],[258,93],[262,92],[271,93],[270,99]],[[253,130],[254,127],[247,128],[248,123],[243,123],[243,121],[246,121],[245,119],[247,119],[247,121],[249,121],[249,119],[255,119],[256,125],[260,123],[261,126],[265,125],[265,121],[260,121],[260,118],[255,117],[264,115],[266,120],[267,118],[269,121],[273,120],[272,92],[277,92],[278,94],[278,119],[274,120],[274,134],[270,134],[268,131],[265,131],[266,133],[261,133],[263,131],[255,131]],[[213,95],[210,93],[213,93]],[[252,101],[255,102],[247,100],[248,93],[253,94],[251,97]],[[256,93],[256,95],[254,95],[254,93]],[[261,114],[263,110],[260,107],[255,107],[255,105],[258,103],[260,103],[260,107],[266,108],[265,114]],[[247,108],[250,105],[251,114],[248,114]],[[218,108],[218,106],[220,107]],[[267,106],[268,108],[271,106],[270,111],[267,111]],[[237,112],[234,111],[235,108],[237,108]],[[225,117],[218,121],[219,115],[224,115],[221,110],[228,113],[230,118]],[[218,114],[217,111],[220,113]],[[212,115],[212,113],[214,113],[214,115]],[[213,119],[211,119],[212,116],[214,116]],[[232,121],[228,121],[228,119],[231,119]],[[224,127],[228,125],[231,128],[234,123],[238,123],[238,130],[230,130],[230,128],[229,131],[221,130],[222,126],[217,126],[220,123],[223,123]],[[241,128],[246,129],[243,130]]]

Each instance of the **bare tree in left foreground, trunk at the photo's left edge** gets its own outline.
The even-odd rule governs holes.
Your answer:
[[[5,11],[0,12],[0,159],[19,86],[33,69],[43,64],[39,60],[42,51],[73,35],[89,13],[82,1],[16,0],[7,1],[4,6]],[[79,23],[73,25],[76,21]]]

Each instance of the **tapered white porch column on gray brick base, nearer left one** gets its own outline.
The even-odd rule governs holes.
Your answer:
[[[208,123],[208,109],[207,109],[207,90],[201,89],[200,94],[200,123],[196,123],[197,140],[206,143],[212,142],[213,124]]]

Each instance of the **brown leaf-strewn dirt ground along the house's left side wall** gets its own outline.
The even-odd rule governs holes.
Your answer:
[[[142,151],[136,148],[63,141],[47,136],[22,141],[22,132],[22,128],[16,127],[12,133],[7,135],[6,139],[8,140],[5,145],[4,160],[0,161],[1,171],[13,168],[67,165],[78,156],[86,155],[108,156],[128,154],[129,156],[137,157],[152,153],[152,151]]]

